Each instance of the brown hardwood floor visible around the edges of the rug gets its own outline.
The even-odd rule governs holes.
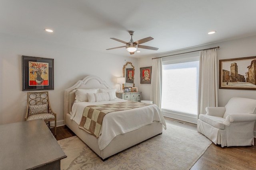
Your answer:
[[[196,131],[196,124],[164,117],[166,123]],[[51,129],[53,132],[54,129]],[[66,126],[57,127],[56,140],[75,134]],[[256,139],[254,146],[220,147],[212,143],[191,170],[256,170]]]

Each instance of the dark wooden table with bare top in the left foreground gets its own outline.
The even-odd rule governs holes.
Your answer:
[[[66,154],[42,119],[0,125],[0,170],[60,170]]]

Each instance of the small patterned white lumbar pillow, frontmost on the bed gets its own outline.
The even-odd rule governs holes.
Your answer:
[[[106,93],[87,93],[89,102],[102,102],[115,100],[115,97],[112,92]]]

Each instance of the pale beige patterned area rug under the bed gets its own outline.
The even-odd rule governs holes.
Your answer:
[[[103,162],[78,137],[58,141],[68,156],[62,170],[189,170],[212,141],[197,131],[167,124],[157,135]]]

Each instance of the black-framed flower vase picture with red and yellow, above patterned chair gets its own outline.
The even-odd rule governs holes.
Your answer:
[[[54,90],[54,59],[22,56],[22,91]]]

